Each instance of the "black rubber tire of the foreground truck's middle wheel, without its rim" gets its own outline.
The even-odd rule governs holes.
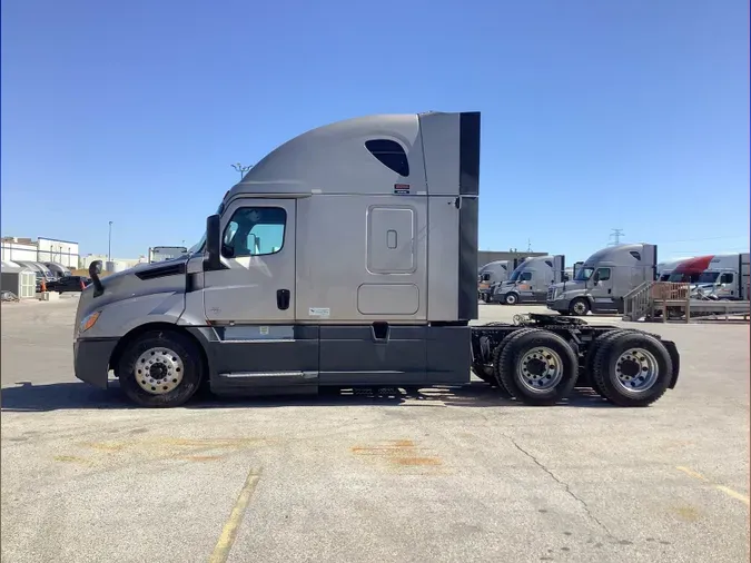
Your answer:
[[[550,348],[559,356],[561,376],[551,388],[532,391],[523,383],[518,364],[526,353],[538,346]],[[550,406],[564,399],[576,385],[579,377],[579,360],[573,348],[557,334],[540,328],[513,334],[496,365],[504,387],[518,401],[534,406]]]

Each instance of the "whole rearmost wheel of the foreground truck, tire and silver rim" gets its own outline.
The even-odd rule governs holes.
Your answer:
[[[673,363],[654,336],[623,332],[597,347],[592,378],[607,401],[619,406],[648,406],[668,389]]]

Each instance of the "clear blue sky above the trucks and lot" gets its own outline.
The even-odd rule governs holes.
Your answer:
[[[749,248],[743,0],[2,3],[2,235],[190,246],[312,127],[481,110],[482,249]],[[42,203],[43,201],[43,203]]]

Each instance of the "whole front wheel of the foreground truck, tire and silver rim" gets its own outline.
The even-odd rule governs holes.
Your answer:
[[[120,388],[148,407],[185,404],[198,391],[202,363],[196,344],[170,330],[145,333],[128,344],[118,365]]]

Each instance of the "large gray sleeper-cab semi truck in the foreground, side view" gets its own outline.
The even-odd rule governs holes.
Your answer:
[[[480,113],[349,119],[254,166],[174,260],[92,284],[76,313],[79,379],[135,403],[216,394],[461,386],[552,405],[590,386],[642,406],[679,376],[659,336],[542,315],[477,318]]]

